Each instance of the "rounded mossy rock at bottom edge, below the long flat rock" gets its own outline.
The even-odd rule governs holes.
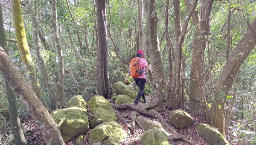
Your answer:
[[[157,129],[149,129],[141,136],[142,145],[171,145],[166,133]]]

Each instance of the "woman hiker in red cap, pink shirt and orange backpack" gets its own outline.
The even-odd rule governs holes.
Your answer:
[[[125,82],[127,82],[129,75],[131,75],[136,85],[140,88],[140,91],[137,94],[137,98],[134,101],[134,105],[138,104],[140,97],[142,97],[144,103],[146,103],[146,98],[144,94],[146,84],[145,68],[147,70],[151,70],[151,64],[148,66],[147,61],[144,59],[143,51],[138,50],[135,58],[131,59],[130,70],[128,70],[128,73],[125,78]]]

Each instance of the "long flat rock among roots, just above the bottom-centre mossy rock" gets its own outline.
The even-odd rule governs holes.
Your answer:
[[[166,128],[163,127],[163,125],[160,122],[147,119],[144,116],[138,116],[136,119],[141,123],[145,130],[157,129],[159,131],[163,131],[167,136],[170,136],[168,131],[166,131]]]

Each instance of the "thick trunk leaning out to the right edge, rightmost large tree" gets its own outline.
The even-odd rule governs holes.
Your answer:
[[[233,84],[234,78],[239,70],[239,67],[250,54],[254,46],[256,45],[256,18],[253,20],[253,23],[248,26],[247,32],[244,34],[244,37],[241,38],[241,41],[236,46],[230,57],[228,58],[221,76],[218,78],[218,84],[215,90],[216,98],[221,97],[220,93],[225,93],[226,95],[229,92],[231,85]],[[212,105],[210,120],[215,124],[218,130],[225,134],[225,97],[222,96],[220,99],[215,100],[218,104],[221,105],[221,108],[217,108]],[[217,111],[216,111],[217,110]]]

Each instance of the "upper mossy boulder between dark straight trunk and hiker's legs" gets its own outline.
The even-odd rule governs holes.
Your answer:
[[[117,81],[112,85],[113,90],[119,95],[127,95],[131,99],[137,97],[137,93],[134,90],[131,90],[125,83],[122,81]]]

